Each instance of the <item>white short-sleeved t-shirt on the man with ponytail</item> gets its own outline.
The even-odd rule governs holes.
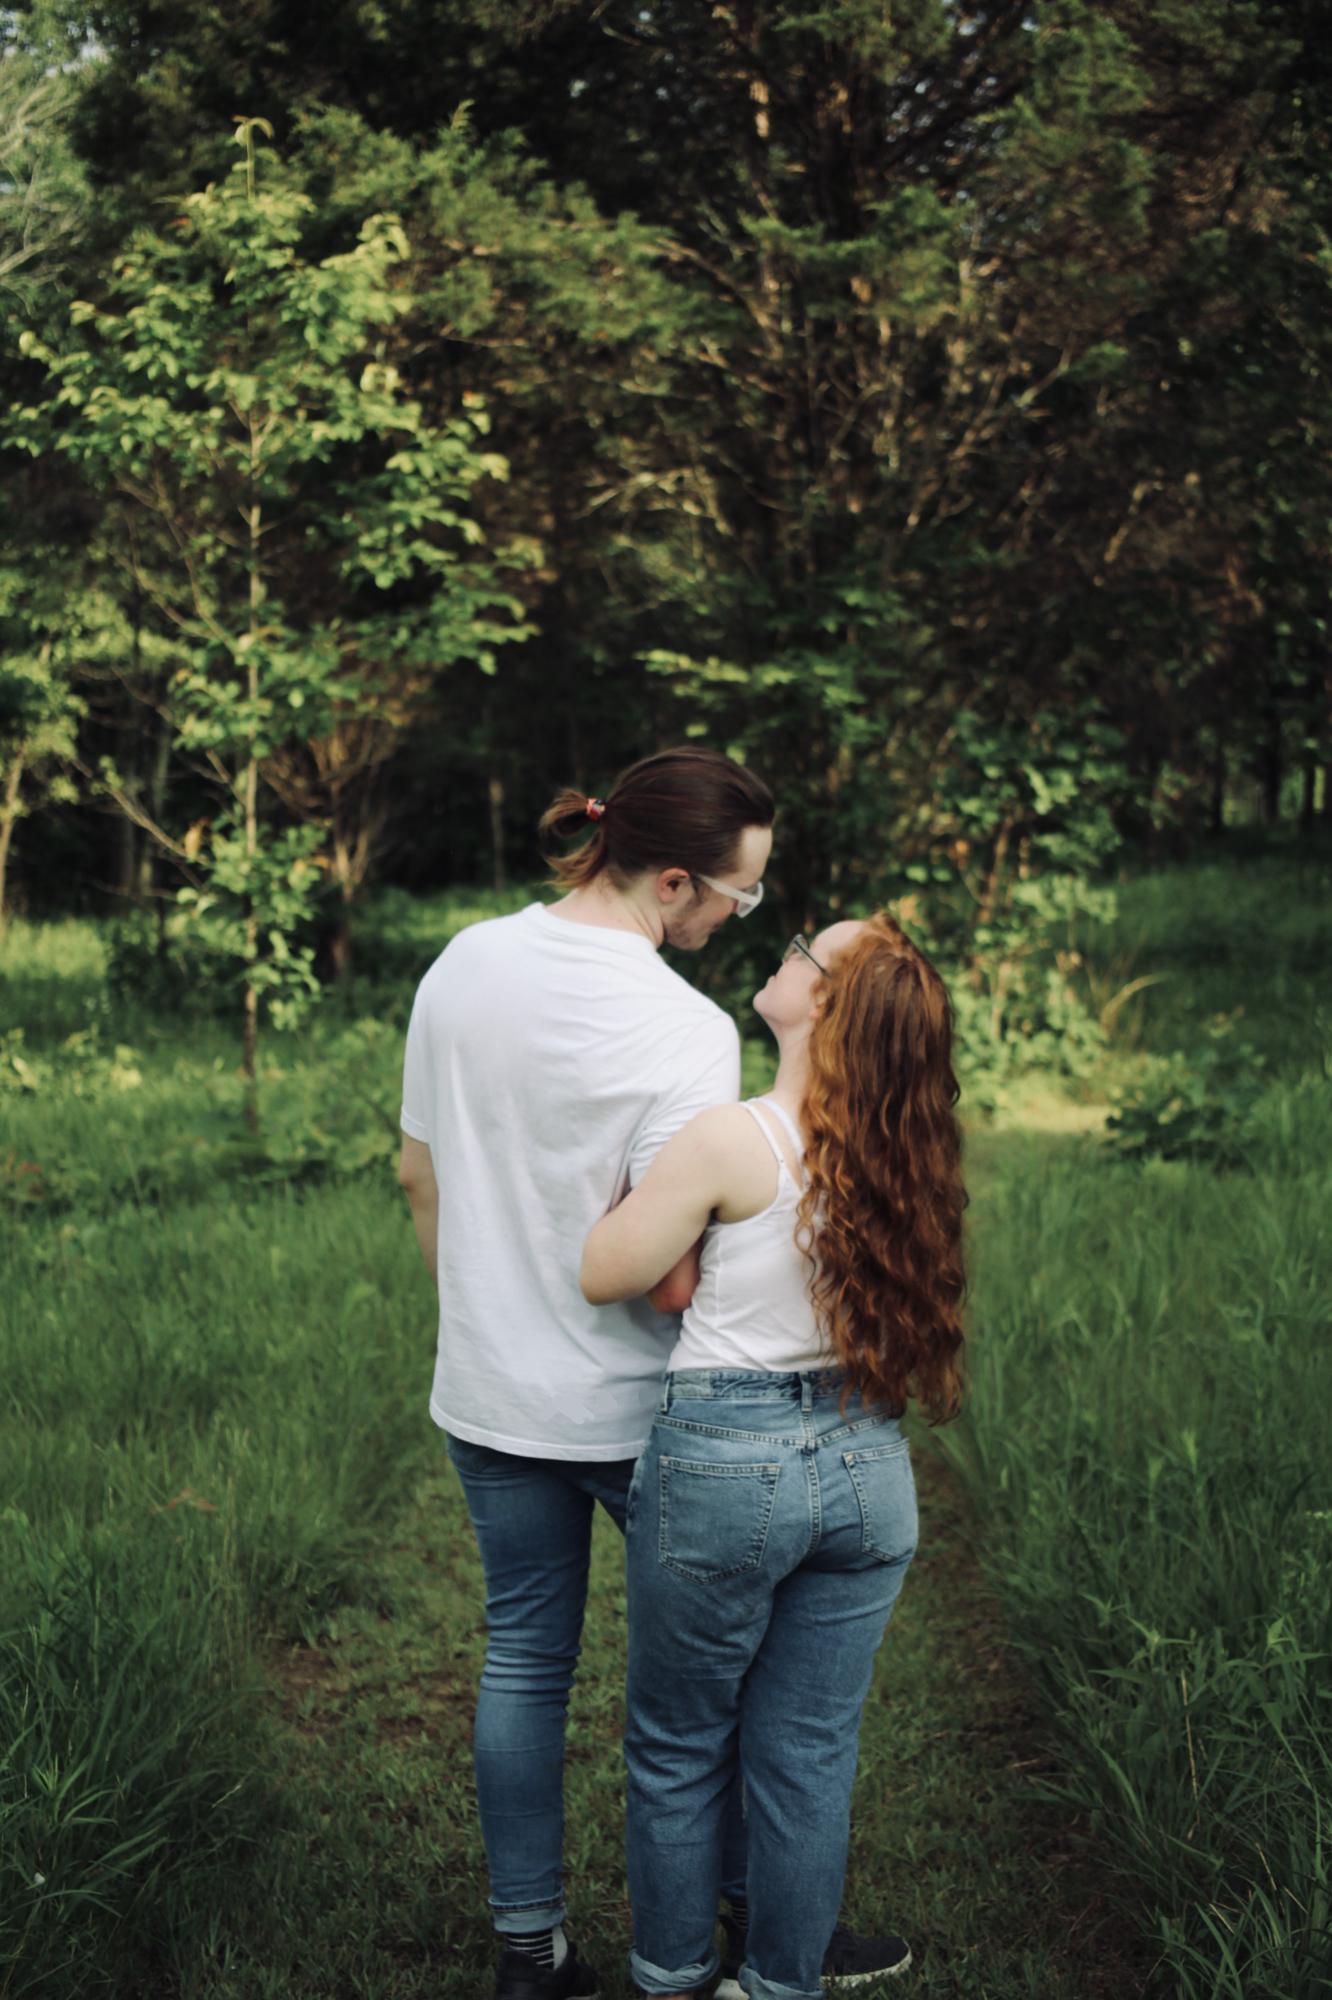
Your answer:
[[[740,1036],[648,938],[542,904],[462,930],[416,992],[402,1130],[440,1186],[430,1414],[528,1458],[634,1458],[674,1316],[590,1306],[582,1242],[696,1112],[740,1096]]]

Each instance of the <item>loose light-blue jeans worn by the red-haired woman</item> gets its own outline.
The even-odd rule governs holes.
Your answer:
[[[666,1378],[628,1510],[630,1966],[716,1970],[724,1804],[744,1780],[754,2000],[820,2000],[846,1872],[860,1708],[916,1492],[896,1418],[832,1374]]]

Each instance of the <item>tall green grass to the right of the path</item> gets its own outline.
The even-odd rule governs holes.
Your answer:
[[[1180,2000],[1332,1990],[1326,1082],[1298,1138],[1228,1176],[1010,1152],[944,1438]]]

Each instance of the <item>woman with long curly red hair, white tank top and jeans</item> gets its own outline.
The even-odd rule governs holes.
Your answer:
[[[630,1958],[640,1992],[820,2000],[860,1708],[916,1548],[906,1404],[962,1398],[948,994],[886,914],[794,938],[764,1098],[702,1112],[588,1236],[594,1304],[702,1238],[628,1502]],[[748,1896],[712,1930],[730,1780]],[[852,1942],[854,1954],[854,1942]],[[910,1962],[874,1940],[876,1978]]]

